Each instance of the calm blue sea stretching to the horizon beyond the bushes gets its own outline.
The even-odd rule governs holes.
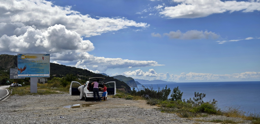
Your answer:
[[[218,101],[218,107],[221,110],[226,110],[228,107],[238,108],[246,114],[260,113],[260,81],[245,81],[245,82],[189,82],[189,83],[141,83],[144,86],[152,86],[154,90],[168,88],[173,90],[179,86],[183,92],[182,99],[194,97],[194,92],[204,93],[206,97],[204,102]],[[138,89],[142,88],[138,85]],[[135,90],[137,90],[135,87]],[[131,88],[132,89],[132,88]],[[138,90],[137,90],[138,91]],[[170,95],[169,95],[170,98]]]

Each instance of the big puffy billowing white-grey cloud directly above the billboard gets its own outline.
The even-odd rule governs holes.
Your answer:
[[[49,53],[51,60],[74,60],[79,52],[94,50],[89,40],[83,40],[75,31],[67,30],[64,25],[54,25],[46,31],[25,26],[21,23],[0,23],[2,31],[6,26],[8,35],[0,37],[0,52],[5,53]],[[81,55],[81,54],[80,54]]]

